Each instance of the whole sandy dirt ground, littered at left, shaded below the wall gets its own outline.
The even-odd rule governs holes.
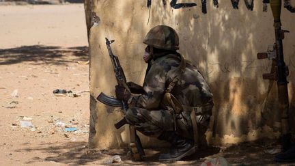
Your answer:
[[[113,155],[121,156],[117,165],[199,165],[219,156],[276,164],[262,141],[199,150],[175,163],[158,163],[155,149],[137,163],[126,149],[89,150],[88,59],[82,4],[0,5],[0,165],[102,165]],[[54,96],[55,89],[78,97]]]

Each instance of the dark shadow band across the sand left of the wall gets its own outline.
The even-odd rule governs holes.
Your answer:
[[[0,49],[0,65],[19,64],[53,64],[64,65],[69,62],[87,61],[88,47],[77,46],[62,48],[59,46],[20,46],[12,49]]]

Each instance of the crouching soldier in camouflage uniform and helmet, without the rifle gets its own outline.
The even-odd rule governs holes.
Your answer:
[[[178,161],[206,147],[212,115],[212,92],[201,73],[180,53],[178,34],[165,25],[152,28],[143,40],[148,63],[143,86],[129,82],[130,92],[116,86],[117,99],[128,103],[128,124],[144,135],[171,143],[160,161]]]

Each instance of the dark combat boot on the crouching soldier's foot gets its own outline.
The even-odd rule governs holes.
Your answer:
[[[170,152],[167,154],[160,154],[159,161],[178,161],[184,158],[184,156],[195,153],[193,140],[181,137],[175,132],[164,132],[158,139],[171,143]]]

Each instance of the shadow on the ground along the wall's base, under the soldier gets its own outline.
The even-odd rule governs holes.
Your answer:
[[[174,163],[158,161],[160,153],[169,151],[169,148],[146,148],[144,161],[133,162],[130,160],[127,148],[89,150],[87,142],[85,141],[43,143],[37,147],[22,148],[16,150],[16,152],[37,152],[38,154],[46,154],[45,158],[40,158],[40,156],[30,158],[26,164],[48,161],[70,165],[86,165],[87,163],[100,165],[106,164],[112,156],[119,155],[122,159],[122,162],[119,164],[122,165],[200,165],[208,158],[217,157],[224,157],[229,163],[234,165],[276,165],[277,163],[273,161],[275,154],[266,154],[265,150],[275,148],[278,145],[277,143],[273,143],[273,140],[270,140],[268,143],[266,143],[266,141],[255,141],[239,143],[223,148],[208,147],[203,150],[197,150],[195,154],[182,158],[182,161]]]

